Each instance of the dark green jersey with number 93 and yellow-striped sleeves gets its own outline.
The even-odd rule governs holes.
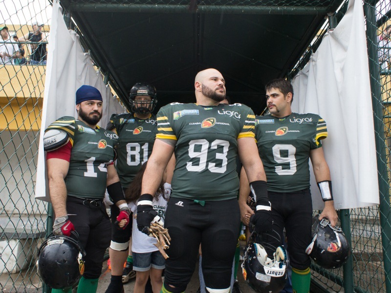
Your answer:
[[[237,198],[238,139],[254,137],[253,111],[240,104],[173,103],[157,114],[156,138],[176,140],[171,197],[217,201]]]

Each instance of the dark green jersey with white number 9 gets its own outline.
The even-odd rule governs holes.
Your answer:
[[[257,116],[255,138],[266,172],[267,189],[292,192],[309,188],[309,152],[322,146],[326,122],[316,114],[284,118]]]

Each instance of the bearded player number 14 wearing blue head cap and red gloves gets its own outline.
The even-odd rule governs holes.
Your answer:
[[[53,232],[79,234],[86,251],[85,271],[78,293],[95,293],[103,257],[111,240],[111,224],[102,203],[106,188],[119,208],[117,221],[129,224],[130,210],[113,165],[118,135],[97,126],[102,117],[98,89],[82,85],[76,91],[78,118],[62,117],[45,130],[43,138],[49,195],[55,213]],[[123,229],[125,229],[123,227]],[[71,293],[71,288],[52,293]]]

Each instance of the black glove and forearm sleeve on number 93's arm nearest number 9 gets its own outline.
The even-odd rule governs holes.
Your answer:
[[[273,218],[266,181],[251,182],[250,189],[257,203],[256,212],[250,217],[250,223],[254,225],[253,228],[257,233],[272,230]]]

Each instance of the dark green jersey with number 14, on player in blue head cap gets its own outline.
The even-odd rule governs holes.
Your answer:
[[[118,135],[96,126],[92,129],[73,117],[62,117],[48,129],[62,129],[72,145],[65,177],[68,196],[103,199],[106,191],[107,165],[114,159]]]

